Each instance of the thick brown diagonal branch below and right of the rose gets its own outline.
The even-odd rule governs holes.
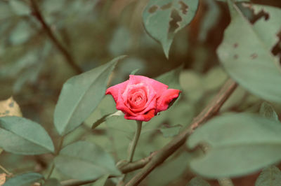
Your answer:
[[[171,156],[178,148],[181,147],[192,134],[192,132],[200,125],[209,120],[211,117],[216,115],[218,113],[218,110],[223,106],[223,103],[228,99],[228,97],[234,92],[235,88],[237,87],[237,83],[235,83],[233,80],[226,81],[225,85],[221,87],[221,90],[218,92],[218,94],[212,99],[212,101],[207,105],[202,112],[195,117],[195,119],[192,121],[192,124],[190,124],[189,127],[187,127],[185,130],[181,132],[181,134],[178,134],[172,141],[170,141],[167,145],[164,146],[164,148],[158,150],[155,152],[154,155],[152,155],[152,158],[148,164],[144,166],[144,168],[134,176],[129,183],[126,184],[126,186],[134,186],[141,183],[141,181],[148,176],[148,174],[155,169],[155,167],[159,166],[159,164],[162,164],[169,156]]]

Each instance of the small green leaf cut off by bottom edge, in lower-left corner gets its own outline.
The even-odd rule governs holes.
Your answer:
[[[22,173],[18,176],[10,178],[3,186],[30,186],[32,183],[43,179],[40,173]]]

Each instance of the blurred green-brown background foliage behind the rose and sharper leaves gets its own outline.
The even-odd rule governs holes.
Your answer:
[[[281,7],[281,1],[276,0],[252,2]],[[139,69],[137,75],[155,78],[183,64],[181,71],[174,71],[175,81],[182,90],[180,100],[145,123],[135,159],[148,156],[178,134],[228,77],[216,56],[216,48],[230,22],[226,3],[200,1],[195,19],[176,34],[169,59],[166,59],[162,46],[143,28],[142,12],[147,3],[148,0],[37,1],[54,36],[83,71],[105,64],[119,55],[129,56],[117,65],[110,85],[126,80],[135,69]],[[31,7],[27,0],[0,0],[0,100],[13,96],[22,115],[39,122],[58,144],[58,134],[53,127],[55,103],[65,80],[77,73],[54,45]],[[254,19],[250,11],[245,10],[245,13]],[[239,87],[222,110],[258,112],[261,102]],[[280,105],[274,107],[277,113],[281,113]],[[113,99],[105,96],[91,117],[67,135],[64,143],[79,139],[92,141],[111,152],[116,161],[126,159],[127,145],[135,130],[133,121],[111,117],[91,131],[93,122],[115,110]],[[157,168],[143,185],[186,183],[192,174],[182,165],[188,164],[191,156],[183,147]],[[48,155],[18,156],[2,152],[0,164],[13,173],[47,173],[51,158]],[[58,171],[53,176],[67,179]],[[247,180],[250,182],[251,178]],[[237,182],[242,184],[243,179]]]

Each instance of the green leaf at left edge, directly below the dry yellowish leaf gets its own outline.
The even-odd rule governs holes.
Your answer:
[[[54,152],[53,142],[40,124],[24,117],[0,117],[0,147],[20,155]]]

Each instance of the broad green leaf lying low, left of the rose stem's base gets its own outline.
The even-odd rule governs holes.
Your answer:
[[[63,148],[60,155],[55,157],[55,168],[65,176],[78,180],[93,180],[107,174],[120,174],[107,152],[86,141],[78,141]]]

